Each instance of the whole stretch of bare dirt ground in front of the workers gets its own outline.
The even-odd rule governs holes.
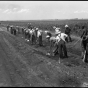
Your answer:
[[[24,39],[0,28],[0,86],[79,87],[88,81],[88,67],[79,62],[70,55],[70,59],[58,64],[55,58],[41,54]]]

